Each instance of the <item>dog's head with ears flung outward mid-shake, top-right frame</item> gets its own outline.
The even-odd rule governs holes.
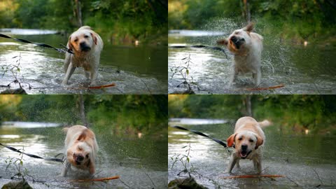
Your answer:
[[[242,29],[237,29],[232,32],[228,38],[218,40],[219,45],[226,45],[228,50],[234,54],[244,53],[246,51],[246,45],[251,43],[250,32],[253,30],[253,23],[251,22]]]

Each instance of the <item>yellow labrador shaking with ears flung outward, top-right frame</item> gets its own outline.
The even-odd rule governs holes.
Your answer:
[[[234,55],[235,64],[230,85],[235,83],[238,73],[249,72],[252,73],[254,84],[260,85],[262,36],[251,32],[252,30],[253,23],[250,23],[242,29],[233,31],[228,38],[217,41],[218,44],[225,45]]]

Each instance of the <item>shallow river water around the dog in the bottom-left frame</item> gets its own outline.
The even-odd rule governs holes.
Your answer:
[[[10,125],[10,127],[8,127]],[[24,148],[26,153],[42,157],[53,157],[62,153],[65,134],[59,124],[5,123],[0,126],[0,143],[14,148]],[[167,188],[167,137],[143,136],[141,139],[96,132],[99,153],[95,178],[120,176],[108,182],[70,182],[89,176],[82,171],[69,171],[68,176],[59,176],[62,163],[50,162],[23,156],[23,167],[38,182],[29,184],[33,188]],[[19,158],[19,153],[0,146],[0,186],[10,181],[5,160]]]

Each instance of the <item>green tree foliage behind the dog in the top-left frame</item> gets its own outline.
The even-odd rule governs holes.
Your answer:
[[[83,24],[108,41],[132,41],[167,34],[167,1],[79,0]],[[10,7],[10,8],[8,8]],[[0,26],[57,29],[78,28],[74,0],[3,0]],[[167,35],[166,35],[167,36]],[[158,37],[158,36],[156,36]]]

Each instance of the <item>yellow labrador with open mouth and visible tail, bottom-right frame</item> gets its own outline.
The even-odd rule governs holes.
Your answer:
[[[237,120],[235,133],[228,138],[228,146],[235,144],[235,151],[232,153],[227,172],[231,172],[237,165],[239,168],[240,159],[253,160],[253,165],[258,173],[262,171],[262,144],[265,144],[265,134],[261,127],[270,125],[268,120],[258,123],[251,117],[243,117]]]

